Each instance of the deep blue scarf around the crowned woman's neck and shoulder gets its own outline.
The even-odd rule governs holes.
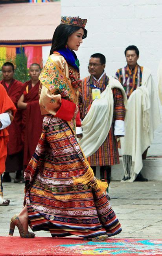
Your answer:
[[[79,72],[79,59],[77,59],[75,52],[70,51],[68,48],[57,50],[57,52],[66,59],[70,66],[74,67],[74,69],[77,69],[77,72]]]

